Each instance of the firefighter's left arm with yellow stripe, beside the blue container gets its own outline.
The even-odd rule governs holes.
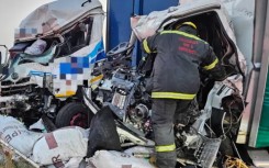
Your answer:
[[[157,51],[157,38],[159,36],[159,33],[149,36],[147,38],[144,38],[142,41],[142,48],[145,53],[150,54],[150,53],[156,53]]]

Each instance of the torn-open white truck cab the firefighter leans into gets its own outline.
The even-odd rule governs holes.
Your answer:
[[[236,45],[232,22],[220,1],[195,1],[170,7],[164,11],[154,11],[148,15],[134,16],[131,18],[131,26],[136,37],[142,41],[162,30],[173,30],[176,25],[186,21],[193,22],[198,27],[199,37],[213,47],[228,77],[224,82],[232,80],[234,82],[232,89],[242,97],[243,81],[247,75],[246,60]],[[198,94],[202,109],[214,82],[209,80],[210,78],[202,69],[201,79],[202,83],[205,85],[201,86]],[[218,108],[221,108],[220,105]]]

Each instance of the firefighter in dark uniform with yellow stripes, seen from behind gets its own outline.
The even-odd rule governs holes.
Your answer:
[[[157,53],[152,71],[152,121],[158,168],[176,167],[175,116],[186,112],[195,98],[200,88],[199,68],[215,80],[225,78],[225,70],[212,47],[197,33],[194,23],[184,22],[175,30],[143,40],[147,54]]]

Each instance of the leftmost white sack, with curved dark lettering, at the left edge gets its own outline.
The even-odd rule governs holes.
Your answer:
[[[43,134],[27,131],[20,121],[12,116],[0,115],[0,138],[22,154],[30,156],[33,146]]]

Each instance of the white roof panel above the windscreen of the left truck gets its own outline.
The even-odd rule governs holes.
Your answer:
[[[37,8],[21,22],[15,32],[15,40],[53,34],[83,15],[102,11],[98,0],[91,0],[81,7],[83,2],[85,0],[57,0]]]

